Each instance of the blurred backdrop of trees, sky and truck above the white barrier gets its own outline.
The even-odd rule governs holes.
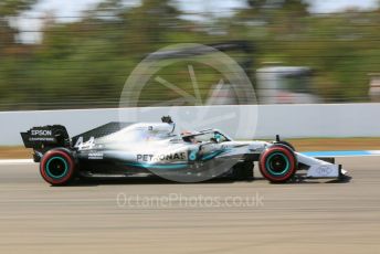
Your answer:
[[[380,102],[378,0],[2,0],[0,110],[118,107],[136,65],[176,43],[223,49],[260,104]],[[191,57],[208,53],[160,70],[189,94]],[[231,104],[222,74],[192,66],[203,102]],[[138,106],[177,96],[149,84]]]

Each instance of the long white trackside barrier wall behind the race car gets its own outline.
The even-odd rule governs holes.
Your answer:
[[[187,116],[210,110],[217,118],[208,127],[219,128],[238,139],[302,137],[378,137],[380,136],[380,104],[329,104],[329,105],[240,105],[208,107],[176,107],[173,120],[184,125]],[[118,121],[119,113],[127,119],[159,121],[163,115],[170,115],[173,108],[108,108],[40,112],[1,112],[0,145],[21,145],[20,131],[32,126],[61,124],[66,126],[71,136],[91,128]],[[246,126],[236,134],[235,123],[223,118],[225,114],[236,114],[244,123],[244,116],[257,113],[257,128]],[[178,117],[180,116],[180,117]],[[190,118],[190,117],[188,117]],[[196,117],[197,118],[197,117]],[[188,124],[189,129],[199,127],[196,118]]]

